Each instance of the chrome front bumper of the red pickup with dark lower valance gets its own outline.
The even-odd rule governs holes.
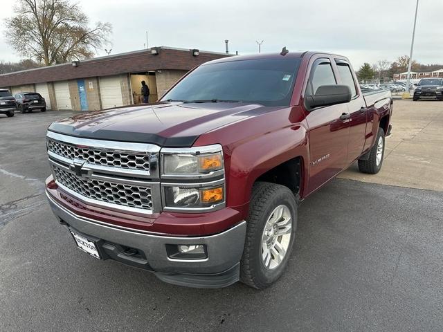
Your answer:
[[[73,214],[57,203],[49,194],[48,201],[59,221],[98,243],[104,259],[114,259],[130,266],[150,270],[170,284],[201,288],[229,286],[239,280],[239,261],[242,257],[246,222],[242,221],[219,234],[205,237],[166,237],[143,231],[123,230],[96,223]],[[166,244],[205,244],[206,259],[170,259]],[[140,255],[128,255],[127,248]],[[130,251],[130,250],[129,250]]]

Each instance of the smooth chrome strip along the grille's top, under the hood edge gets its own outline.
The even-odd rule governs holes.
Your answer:
[[[129,142],[113,142],[111,140],[93,140],[90,138],[80,138],[74,136],[62,135],[53,131],[47,131],[46,136],[53,140],[57,140],[62,143],[69,143],[71,145],[82,145],[91,147],[94,149],[110,149],[125,152],[141,152],[141,153],[156,153],[160,151],[158,145],[144,144],[144,143],[129,143]]]

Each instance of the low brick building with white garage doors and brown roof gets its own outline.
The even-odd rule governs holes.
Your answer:
[[[226,56],[162,46],[3,74],[0,86],[12,94],[38,92],[48,109],[93,111],[140,103],[142,80],[154,102],[190,69]]]

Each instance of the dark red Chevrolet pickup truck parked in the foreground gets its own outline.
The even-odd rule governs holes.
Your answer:
[[[298,204],[356,160],[379,172],[391,113],[390,92],[363,95],[340,55],[218,59],[155,104],[51,124],[46,194],[93,257],[182,286],[264,288],[287,265]]]

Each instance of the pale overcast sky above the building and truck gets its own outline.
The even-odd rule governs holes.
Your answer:
[[[113,26],[112,53],[149,46],[230,53],[325,50],[363,62],[409,54],[415,0],[80,0],[91,22]],[[3,36],[14,0],[1,0],[0,60],[19,55]],[[443,0],[420,0],[413,58],[443,64]],[[100,55],[105,55],[103,50]]]

